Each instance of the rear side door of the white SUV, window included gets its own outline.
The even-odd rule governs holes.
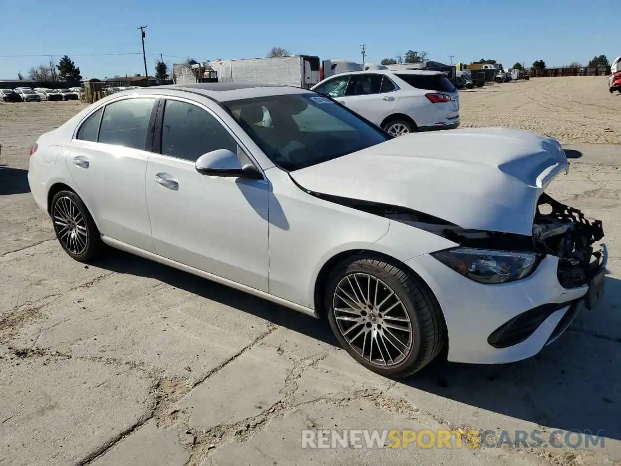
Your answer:
[[[398,97],[388,76],[362,73],[350,76],[345,97],[337,100],[379,126],[394,111]]]

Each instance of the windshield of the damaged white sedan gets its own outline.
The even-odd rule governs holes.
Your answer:
[[[379,128],[319,94],[223,103],[272,162],[299,170],[390,139]]]

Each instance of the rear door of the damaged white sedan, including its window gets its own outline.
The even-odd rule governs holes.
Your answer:
[[[79,126],[66,155],[101,234],[151,252],[145,173],[157,102],[134,96],[100,107]]]

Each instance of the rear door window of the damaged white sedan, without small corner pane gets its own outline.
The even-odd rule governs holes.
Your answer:
[[[145,150],[153,98],[133,98],[107,104],[99,142]]]

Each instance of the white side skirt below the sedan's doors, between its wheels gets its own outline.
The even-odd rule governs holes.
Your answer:
[[[188,272],[188,273],[191,273],[192,275],[197,275],[197,276],[200,276],[201,278],[206,278],[207,280],[215,281],[216,283],[220,283],[220,285],[230,286],[230,288],[235,288],[236,290],[244,291],[245,293],[249,293],[250,295],[255,295],[255,296],[258,296],[259,298],[263,298],[268,301],[271,301],[272,303],[281,304],[281,306],[285,306],[286,308],[293,309],[294,311],[307,314],[314,318],[319,318],[319,316],[314,311],[314,309],[307,308],[306,306],[302,306],[301,304],[297,304],[292,301],[288,301],[287,299],[279,298],[278,296],[270,295],[270,293],[266,293],[265,291],[256,290],[256,288],[251,288],[250,286],[242,285],[242,283],[237,283],[237,281],[228,280],[227,278],[222,278],[221,276],[214,275],[209,272],[204,272],[194,267],[189,267],[189,265],[185,265],[181,262],[176,262],[175,260],[162,257],[161,255],[154,254],[153,252],[145,251],[143,249],[137,248],[130,244],[124,243],[116,239],[112,239],[104,235],[101,235],[101,240],[107,245],[109,245],[110,247],[113,247],[114,249],[120,249],[122,251],[129,252],[130,254],[135,254],[145,259],[153,260],[154,262],[158,262],[163,265],[168,265],[168,267],[173,267],[178,270],[182,270],[183,272]]]

